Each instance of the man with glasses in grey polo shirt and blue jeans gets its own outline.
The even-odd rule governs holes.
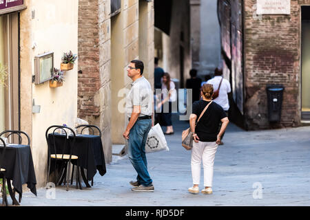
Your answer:
[[[126,113],[129,118],[123,137],[128,141],[128,157],[138,176],[130,181],[133,191],[154,192],[153,180],[147,170],[145,144],[153,125],[152,87],[143,76],[144,64],[134,60],[127,68],[127,76],[132,80],[132,88],[126,96]]]

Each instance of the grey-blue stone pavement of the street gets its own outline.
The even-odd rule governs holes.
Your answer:
[[[180,145],[188,122],[177,118],[174,135],[167,136],[170,151],[147,155],[154,192],[133,192],[134,168],[126,156],[114,157],[92,188],[66,192],[60,186],[55,199],[44,188],[38,197],[24,192],[21,206],[310,206],[310,126],[243,131],[230,123],[216,153],[214,193],[192,195],[191,153]]]

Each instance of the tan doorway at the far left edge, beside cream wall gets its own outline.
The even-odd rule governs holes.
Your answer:
[[[19,14],[2,15],[0,17],[0,74],[3,80],[0,85],[0,131],[19,129],[18,44]]]

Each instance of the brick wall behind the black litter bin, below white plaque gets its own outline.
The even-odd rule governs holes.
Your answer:
[[[256,0],[244,2],[245,128],[300,125],[300,5],[291,0],[290,15],[254,19]],[[268,84],[285,86],[280,123],[268,122]]]

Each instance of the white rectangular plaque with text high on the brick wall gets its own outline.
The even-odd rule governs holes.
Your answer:
[[[256,14],[291,14],[291,0],[257,0]]]

